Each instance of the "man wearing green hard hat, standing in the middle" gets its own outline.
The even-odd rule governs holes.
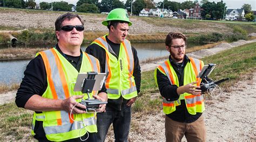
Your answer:
[[[95,39],[86,48],[95,56],[103,72],[107,73],[106,112],[97,114],[97,140],[104,141],[113,124],[115,141],[127,141],[131,123],[131,105],[140,91],[140,66],[137,51],[131,46],[128,35],[132,25],[125,9],[113,9],[103,25],[109,34]]]

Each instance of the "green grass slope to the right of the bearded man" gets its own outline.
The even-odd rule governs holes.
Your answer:
[[[252,79],[252,73],[256,69],[256,43],[250,43],[227,50],[217,55],[203,58],[205,64],[217,64],[211,73],[212,79],[230,78],[228,82],[221,84],[227,91],[228,87],[239,80]]]

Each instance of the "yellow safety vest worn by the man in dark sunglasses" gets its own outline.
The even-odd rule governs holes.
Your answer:
[[[37,53],[44,61],[48,86],[42,97],[49,99],[66,99],[73,95],[81,95],[82,92],[74,92],[78,71],[68,60],[65,59],[55,48]],[[80,73],[95,71],[100,72],[99,61],[83,52]],[[90,93],[97,94],[97,91]],[[83,99],[87,99],[87,94]],[[77,100],[80,102],[82,99]],[[84,136],[86,131],[97,132],[96,114],[72,114],[66,111],[43,111],[33,114],[32,134],[34,133],[35,121],[43,121],[43,129],[46,138],[51,141],[63,141]],[[80,123],[78,122],[80,121]],[[81,123],[84,121],[84,124]]]

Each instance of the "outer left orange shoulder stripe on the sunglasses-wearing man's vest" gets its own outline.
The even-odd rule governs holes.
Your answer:
[[[40,55],[42,56],[42,58],[44,60],[46,75],[47,75],[47,78],[48,78],[48,81],[49,81],[49,86],[50,86],[50,89],[51,89],[52,97],[53,97],[53,99],[58,99],[57,93],[55,91],[55,86],[54,86],[54,83],[53,83],[53,80],[52,80],[52,77],[51,77],[51,67],[50,67],[50,64],[49,64],[49,60],[48,60],[45,52],[40,52]]]

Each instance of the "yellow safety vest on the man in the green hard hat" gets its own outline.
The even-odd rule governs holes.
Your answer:
[[[134,59],[131,43],[124,40],[120,44],[118,59],[111,54],[114,53],[106,42],[106,35],[95,39],[95,43],[106,51],[105,72],[108,76],[105,80],[107,96],[109,99],[118,99],[121,94],[125,99],[137,96],[137,89],[133,77]]]

